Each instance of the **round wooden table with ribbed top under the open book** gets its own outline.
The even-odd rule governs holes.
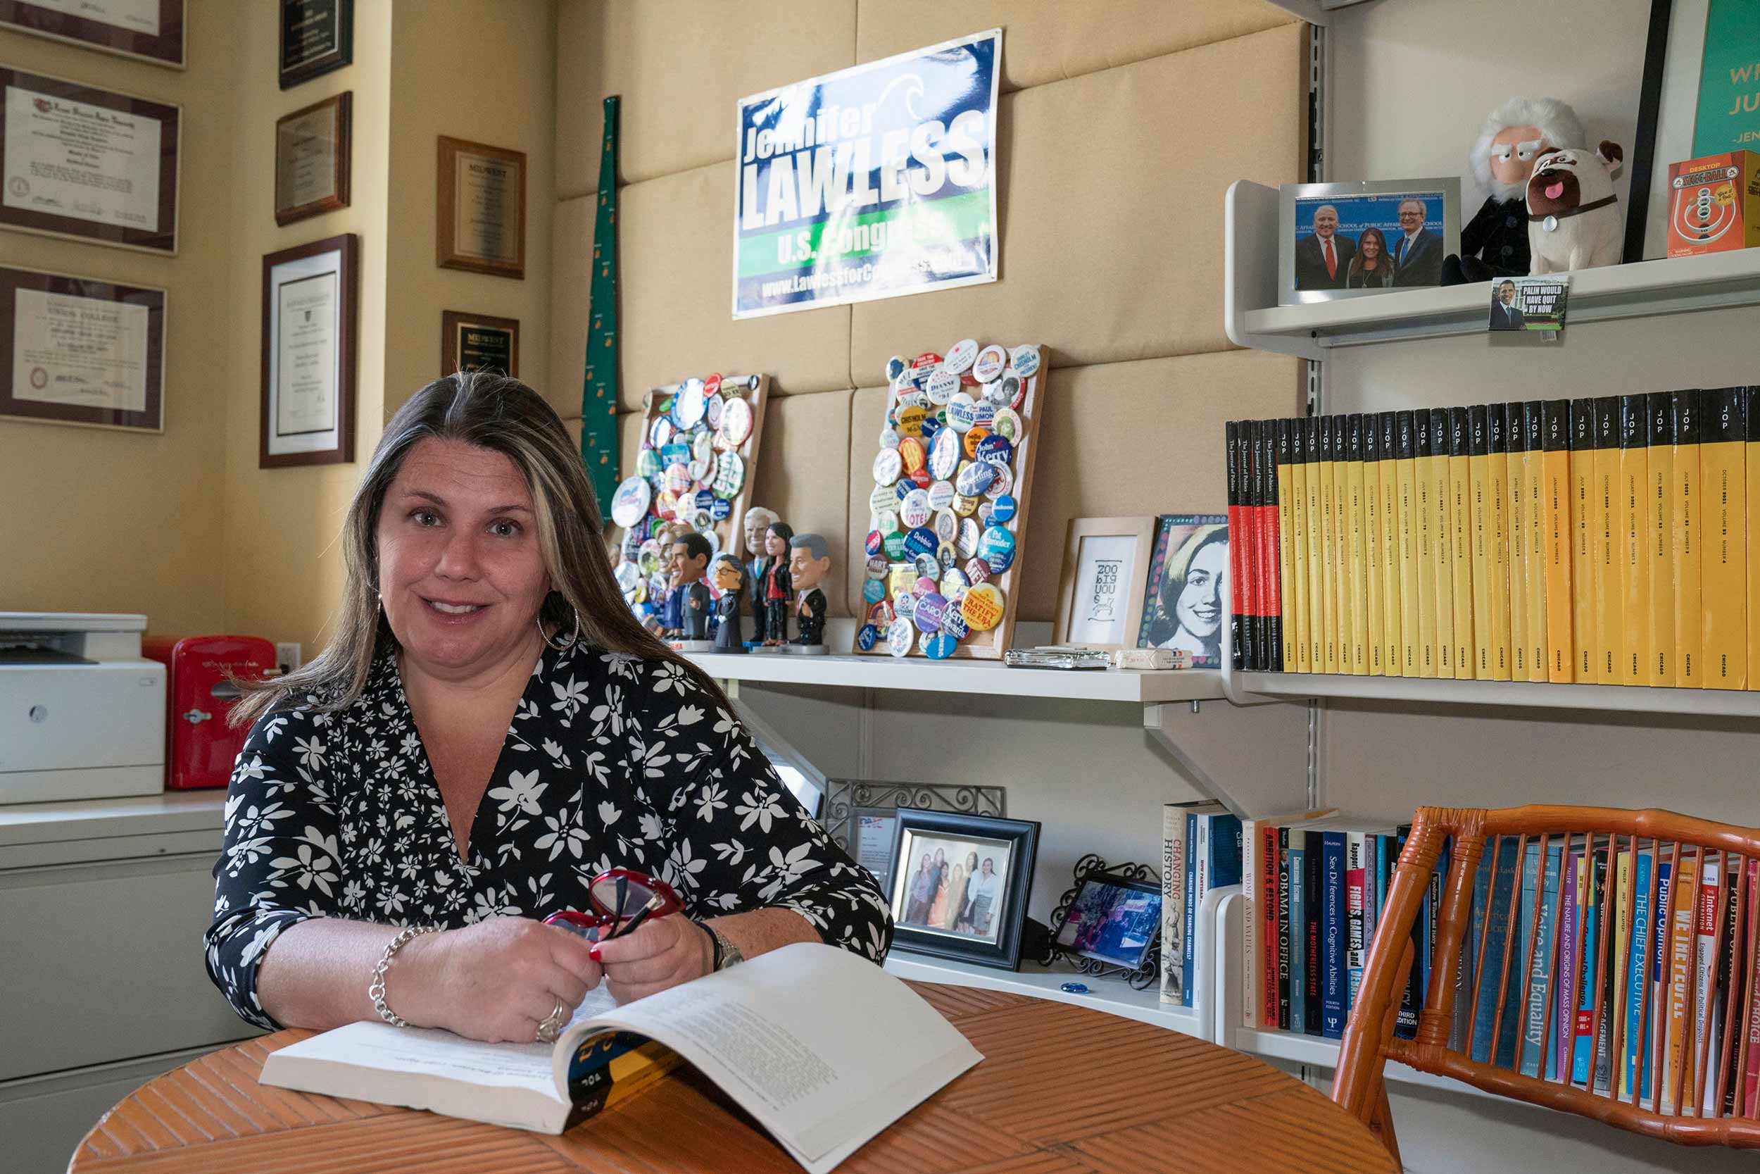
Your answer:
[[[1243,1053],[1086,1007],[912,986],[984,1061],[838,1174],[1397,1174],[1366,1126]],[[257,1082],[264,1056],[308,1035],[246,1040],[141,1086],[86,1134],[69,1172],[801,1172],[699,1077],[662,1081],[560,1137]]]

